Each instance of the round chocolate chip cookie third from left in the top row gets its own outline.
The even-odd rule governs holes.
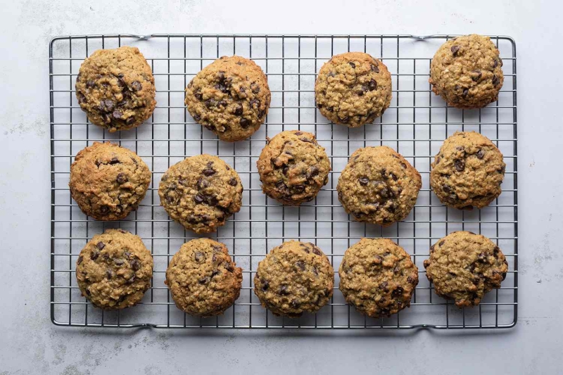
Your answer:
[[[383,115],[391,104],[391,74],[384,63],[363,52],[347,52],[322,65],[315,102],[327,119],[360,127]]]

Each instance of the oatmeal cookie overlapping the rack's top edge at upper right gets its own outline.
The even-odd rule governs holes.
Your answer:
[[[483,108],[498,100],[502,60],[491,38],[456,37],[436,51],[430,65],[432,91],[455,108]]]

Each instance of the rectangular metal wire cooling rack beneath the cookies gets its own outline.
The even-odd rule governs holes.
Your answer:
[[[516,49],[510,37],[492,37],[504,62],[505,83],[499,100],[481,110],[449,108],[431,92],[428,78],[434,52],[449,35],[177,35],[130,34],[56,37],[49,48],[51,111],[51,320],[61,326],[156,328],[316,328],[412,329],[431,327],[508,328],[517,322],[517,108]],[[138,46],[156,78],[158,101],[153,116],[134,130],[110,134],[89,124],[78,106],[74,86],[80,64],[96,49]],[[328,122],[315,108],[317,72],[336,53],[365,51],[381,58],[393,78],[391,107],[374,124],[348,129]],[[215,58],[237,54],[252,58],[267,73],[272,105],[267,121],[251,139],[234,144],[196,124],[184,108],[184,88]],[[327,149],[332,172],[315,201],[283,207],[265,196],[255,168],[266,137],[285,129],[317,135]],[[498,145],[507,163],[502,194],[483,210],[446,208],[429,189],[431,159],[443,140],[457,130],[475,130]],[[68,178],[74,156],[93,141],[110,140],[135,151],[153,171],[146,198],[137,212],[120,222],[86,217],[70,198]],[[353,222],[339,204],[336,182],[355,149],[386,145],[402,153],[422,175],[416,207],[403,222],[382,228]],[[178,310],[163,281],[171,256],[194,238],[160,207],[158,183],[167,168],[186,156],[211,153],[239,172],[243,207],[211,237],[229,248],[243,268],[241,296],[224,315],[195,318]],[[80,296],[75,263],[94,234],[120,227],[139,234],[151,250],[154,272],[142,303],[104,312]],[[439,298],[424,275],[429,248],[455,230],[491,238],[509,264],[502,288],[479,307],[458,309]],[[410,253],[419,268],[419,285],[410,309],[389,318],[366,318],[344,302],[336,272],[346,248],[363,236],[387,237]],[[253,276],[267,251],[282,241],[311,241],[335,269],[334,297],[315,315],[275,317],[253,293]]]

